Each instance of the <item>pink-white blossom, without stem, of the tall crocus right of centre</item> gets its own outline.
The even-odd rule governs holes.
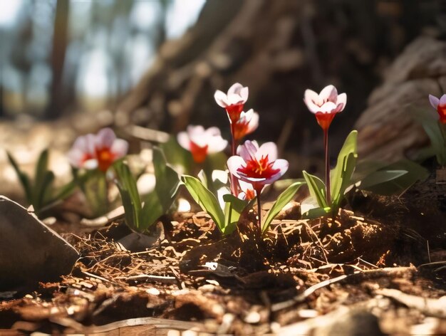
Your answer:
[[[328,130],[336,113],[341,112],[347,103],[347,95],[341,93],[333,85],[328,85],[317,94],[312,90],[305,90],[304,102],[308,110],[316,115],[316,120],[322,129]]]

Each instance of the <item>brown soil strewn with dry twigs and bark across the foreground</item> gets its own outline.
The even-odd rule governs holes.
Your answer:
[[[432,179],[356,192],[336,220],[294,203],[264,236],[252,210],[226,237],[204,212],[174,214],[143,251],[117,243],[122,221],[61,233],[81,259],[58,283],[0,293],[0,334],[446,334],[445,195]]]

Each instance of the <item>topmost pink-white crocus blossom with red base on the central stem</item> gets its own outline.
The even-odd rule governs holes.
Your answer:
[[[229,88],[227,94],[220,90],[215,91],[214,98],[218,105],[224,107],[229,120],[234,123],[239,120],[244,103],[247,103],[249,90],[240,83],[235,83]]]

